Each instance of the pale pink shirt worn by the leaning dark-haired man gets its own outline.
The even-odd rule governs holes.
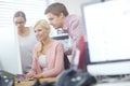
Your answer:
[[[83,34],[81,18],[74,14],[68,15],[65,18],[63,30],[66,31],[73,40],[73,46],[67,52],[65,52],[65,54],[69,55],[72,54],[72,51],[75,49],[75,44],[78,44],[80,35]]]

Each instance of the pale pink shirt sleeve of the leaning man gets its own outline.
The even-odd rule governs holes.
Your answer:
[[[72,54],[76,49],[79,38],[83,34],[83,27],[80,17],[74,16],[69,22],[69,34],[72,37]]]

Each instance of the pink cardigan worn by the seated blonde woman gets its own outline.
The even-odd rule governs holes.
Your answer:
[[[53,41],[51,48],[46,53],[47,57],[47,68],[48,71],[42,71],[38,62],[37,46],[35,46],[32,52],[32,66],[29,72],[31,73],[42,73],[43,77],[57,76],[64,70],[64,47],[58,41]]]

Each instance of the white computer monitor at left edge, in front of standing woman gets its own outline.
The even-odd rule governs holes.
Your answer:
[[[14,27],[0,28],[0,70],[22,73],[17,31]]]

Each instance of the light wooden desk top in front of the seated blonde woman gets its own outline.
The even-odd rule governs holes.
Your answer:
[[[55,82],[55,77],[49,77],[49,78],[40,78],[40,82]],[[35,83],[35,81],[25,81],[25,82],[21,82],[17,83],[15,82],[14,86],[30,86]]]

